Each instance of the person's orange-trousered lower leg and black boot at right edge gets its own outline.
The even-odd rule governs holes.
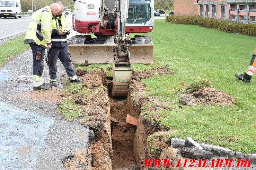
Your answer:
[[[243,73],[236,73],[235,76],[244,82],[249,83],[251,81],[251,78],[253,77],[253,74],[256,71],[256,49],[254,51],[253,57],[251,58],[250,64],[248,69]]]

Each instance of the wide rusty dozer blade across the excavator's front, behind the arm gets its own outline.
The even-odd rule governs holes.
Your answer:
[[[115,44],[75,44],[69,45],[72,62],[76,64],[103,64],[111,63],[114,59],[113,47]],[[152,64],[154,58],[154,45],[133,44],[129,47],[130,62],[140,64]]]

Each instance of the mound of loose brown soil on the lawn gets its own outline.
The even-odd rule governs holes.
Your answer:
[[[233,98],[220,89],[215,88],[202,88],[197,90],[194,94],[198,102],[205,105],[218,104],[220,106],[236,106],[233,103]]]

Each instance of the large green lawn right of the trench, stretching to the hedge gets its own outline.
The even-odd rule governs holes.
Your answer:
[[[143,80],[148,96],[172,103],[173,110],[155,111],[161,115],[156,121],[170,127],[169,138],[190,136],[197,142],[255,153],[256,79],[245,83],[235,77],[235,72],[242,73],[247,69],[255,49],[255,37],[172,24],[165,20],[154,22],[154,29],[148,33],[154,43],[154,64],[132,64],[132,68],[144,70],[167,66],[174,73]],[[109,67],[109,64],[76,68],[91,70],[96,66]],[[210,80],[213,88],[231,95],[237,107],[199,104],[198,107],[179,108],[180,91],[201,79]],[[178,83],[185,83],[185,86]],[[151,113],[146,114],[150,116]]]

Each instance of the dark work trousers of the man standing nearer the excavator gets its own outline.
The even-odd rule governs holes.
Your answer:
[[[57,78],[57,60],[58,58],[62,62],[63,66],[66,69],[66,72],[69,77],[73,77],[76,75],[74,65],[72,64],[72,58],[69,54],[69,48],[66,47],[52,47],[50,48],[50,63],[51,66],[49,66],[49,74],[50,79],[55,80]],[[50,80],[50,81],[51,81]]]

